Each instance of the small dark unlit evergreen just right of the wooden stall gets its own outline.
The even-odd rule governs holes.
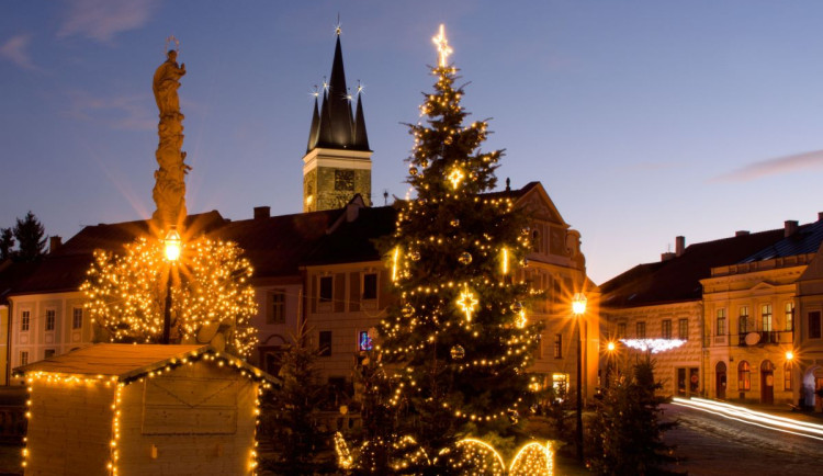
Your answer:
[[[297,336],[292,336],[278,362],[283,385],[262,401],[262,439],[279,454],[264,466],[274,474],[311,475],[323,467],[317,455],[329,434],[322,429],[317,412],[327,399],[327,389],[317,375],[318,351],[306,344],[307,332],[303,325]]]

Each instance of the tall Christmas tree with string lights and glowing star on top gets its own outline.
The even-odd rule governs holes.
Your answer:
[[[493,192],[503,154],[481,150],[487,123],[466,122],[442,26],[433,39],[435,91],[409,125],[415,196],[385,245],[399,301],[380,328],[382,363],[394,373],[390,405],[429,455],[462,437],[505,431],[528,410],[540,330],[517,277],[527,222],[509,194]]]

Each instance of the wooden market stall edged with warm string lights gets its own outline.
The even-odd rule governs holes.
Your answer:
[[[208,345],[99,343],[15,370],[26,475],[245,475],[275,379]]]

